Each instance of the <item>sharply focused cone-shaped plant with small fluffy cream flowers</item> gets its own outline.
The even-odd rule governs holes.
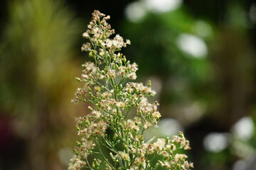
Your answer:
[[[82,77],[76,79],[83,86],[73,102],[89,102],[93,108],[89,106],[90,114],[75,120],[82,139],[68,169],[190,169],[193,163],[186,161],[186,154],[178,153],[190,149],[182,132],[171,139],[144,141],[144,130],[156,126],[161,117],[159,103],[147,100],[155,94],[150,81],[147,86],[126,81],[137,79],[138,68],[119,51],[131,42],[114,36],[108,19],[110,16],[94,11],[82,34],[90,41],[82,45],[82,51],[89,52],[94,62],[82,64]],[[129,118],[132,108],[137,116]],[[99,154],[100,159],[92,159],[90,154]]]

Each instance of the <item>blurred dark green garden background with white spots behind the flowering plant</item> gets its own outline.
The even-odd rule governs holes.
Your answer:
[[[182,130],[196,170],[256,169],[256,2],[2,0],[0,169],[66,169],[78,136],[70,103],[95,9],[132,41],[124,55],[151,79],[157,137]]]

